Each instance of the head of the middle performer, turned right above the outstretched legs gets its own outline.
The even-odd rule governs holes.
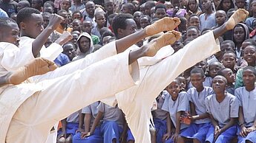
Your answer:
[[[119,39],[136,32],[137,25],[132,15],[122,13],[114,17],[112,28],[116,39]]]

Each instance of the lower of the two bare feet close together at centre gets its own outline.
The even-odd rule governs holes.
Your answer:
[[[163,46],[171,45],[172,43],[180,39],[180,37],[180,32],[174,30],[171,32],[166,32],[159,38],[155,38],[154,40],[145,45],[145,56],[153,57],[157,54],[157,51],[161,49]]]

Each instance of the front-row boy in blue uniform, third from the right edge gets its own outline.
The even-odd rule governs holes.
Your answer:
[[[191,125],[183,130],[183,142],[185,139],[193,139],[193,142],[204,142],[206,140],[206,131],[209,130],[211,119],[206,112],[205,100],[206,97],[213,94],[211,87],[203,86],[203,81],[206,78],[203,69],[194,68],[191,70],[191,83],[194,88],[188,89],[188,100],[191,109]],[[184,118],[182,118],[183,120]]]

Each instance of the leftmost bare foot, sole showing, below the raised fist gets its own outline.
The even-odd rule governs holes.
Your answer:
[[[13,71],[13,73],[8,76],[9,80],[7,81],[9,84],[17,85],[22,83],[24,80],[27,80],[29,77],[45,74],[48,71],[55,70],[56,68],[57,66],[52,61],[39,57],[31,63]]]

